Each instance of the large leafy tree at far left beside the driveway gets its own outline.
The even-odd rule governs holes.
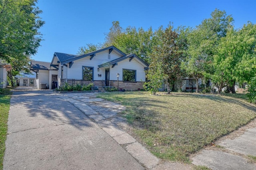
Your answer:
[[[38,30],[44,22],[36,7],[37,0],[0,0],[0,59],[10,63],[13,76],[26,69],[31,55],[37,52],[42,36]],[[17,65],[17,63],[19,63]],[[24,63],[25,65],[20,65]]]

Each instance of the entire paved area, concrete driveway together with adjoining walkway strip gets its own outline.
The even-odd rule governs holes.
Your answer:
[[[126,119],[118,114],[124,109],[122,105],[97,99],[93,93],[15,91],[9,112],[4,169],[169,167],[122,129],[128,127]]]

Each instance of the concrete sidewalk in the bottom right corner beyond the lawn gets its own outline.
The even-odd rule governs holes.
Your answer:
[[[193,156],[192,163],[212,170],[256,170],[248,156],[256,157],[256,120]]]

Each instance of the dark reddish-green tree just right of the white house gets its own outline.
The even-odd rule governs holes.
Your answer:
[[[156,82],[160,82],[159,79],[165,80],[168,94],[170,94],[170,85],[173,85],[175,79],[182,73],[181,62],[183,60],[182,51],[177,43],[178,33],[171,25],[160,34],[160,42],[154,46],[149,68],[152,70],[149,71],[147,77],[154,79],[155,75],[162,75]]]

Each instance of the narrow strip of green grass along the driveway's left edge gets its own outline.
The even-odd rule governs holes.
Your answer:
[[[0,89],[0,170],[3,169],[10,95],[10,89]]]

